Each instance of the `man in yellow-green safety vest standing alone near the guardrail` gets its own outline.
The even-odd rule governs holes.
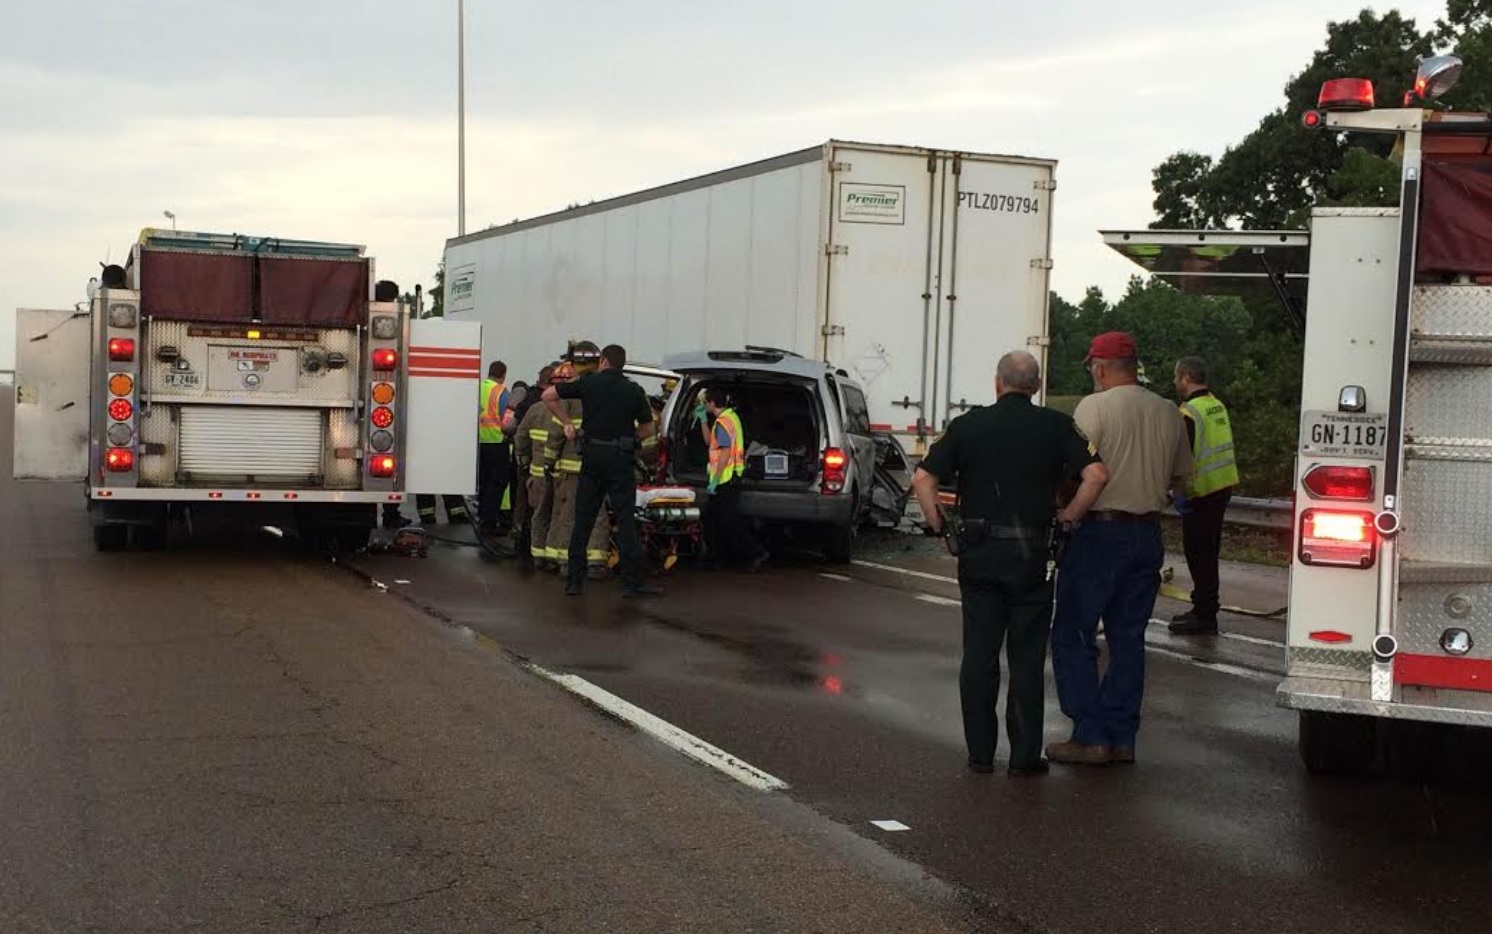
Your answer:
[[[1174,616],[1170,630],[1177,636],[1204,636],[1217,631],[1217,555],[1223,515],[1238,485],[1238,461],[1228,407],[1207,386],[1207,361],[1201,357],[1176,361],[1174,382],[1192,443],[1192,476],[1186,494],[1176,498],[1186,568],[1192,574],[1192,609]]]

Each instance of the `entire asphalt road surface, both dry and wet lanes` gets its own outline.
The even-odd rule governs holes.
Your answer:
[[[927,555],[679,573],[648,603],[458,546],[95,555],[78,489],[4,460],[4,931],[1489,930],[1486,773],[1306,776],[1277,621],[1156,627],[1140,762],[1012,782],[964,768],[958,594]]]

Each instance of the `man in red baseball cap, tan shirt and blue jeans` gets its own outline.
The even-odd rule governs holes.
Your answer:
[[[1052,670],[1073,739],[1046,756],[1071,765],[1132,762],[1144,697],[1144,630],[1161,585],[1161,510],[1192,471],[1186,425],[1138,383],[1134,337],[1094,337],[1083,358],[1094,394],[1073,413],[1109,468],[1109,485],[1073,531],[1056,583]],[[1109,668],[1098,677],[1098,621]]]

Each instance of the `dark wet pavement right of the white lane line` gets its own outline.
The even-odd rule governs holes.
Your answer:
[[[1225,616],[1213,639],[1152,627],[1135,767],[976,777],[949,565],[871,554],[849,567],[788,558],[759,576],[680,568],[646,603],[615,583],[567,600],[558,577],[470,548],[355,564],[783,779],[780,794],[988,898],[1016,930],[1488,930],[1485,779],[1308,777],[1295,715],[1274,704],[1279,619]],[[1229,603],[1279,597],[1282,573],[1232,570]],[[1065,739],[1065,724],[1049,691],[1047,737]]]

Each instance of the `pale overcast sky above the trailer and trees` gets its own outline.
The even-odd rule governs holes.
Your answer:
[[[1059,160],[1055,288],[1219,152],[1361,0],[467,0],[467,227],[828,139]],[[1377,3],[1422,25],[1443,0]],[[433,285],[457,225],[455,0],[3,0],[0,369],[140,228],[366,243]]]

